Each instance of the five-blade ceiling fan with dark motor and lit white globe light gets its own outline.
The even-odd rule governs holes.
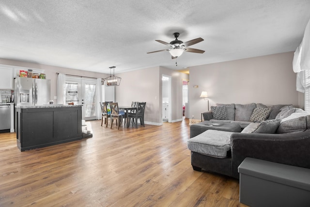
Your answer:
[[[171,58],[174,59],[174,58],[180,57],[184,51],[195,52],[195,53],[204,52],[204,50],[201,50],[201,49],[187,48],[188,46],[195,45],[197,43],[202,42],[203,39],[201,37],[193,39],[193,40],[189,40],[187,42],[183,42],[181,40],[178,40],[178,37],[180,35],[179,32],[174,32],[173,35],[175,37],[175,40],[171,41],[170,43],[164,42],[162,40],[155,40],[161,44],[169,46],[170,47],[169,49],[161,49],[161,50],[157,50],[153,52],[147,52],[147,54],[154,53],[154,52],[161,52],[161,51],[169,51],[171,54]]]

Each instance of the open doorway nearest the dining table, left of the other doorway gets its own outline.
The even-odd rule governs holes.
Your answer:
[[[162,121],[171,122],[171,76],[162,75]]]

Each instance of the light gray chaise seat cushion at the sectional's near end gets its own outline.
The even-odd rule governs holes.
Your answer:
[[[187,148],[192,152],[204,155],[226,158],[231,149],[231,134],[234,132],[206,130],[187,141]]]

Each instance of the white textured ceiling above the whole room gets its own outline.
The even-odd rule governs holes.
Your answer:
[[[310,0],[1,0],[0,58],[109,73],[294,51]],[[155,42],[202,37],[171,59]]]

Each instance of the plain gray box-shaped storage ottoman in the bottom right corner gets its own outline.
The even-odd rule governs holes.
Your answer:
[[[251,207],[310,206],[308,168],[246,158],[238,172],[240,203]]]

